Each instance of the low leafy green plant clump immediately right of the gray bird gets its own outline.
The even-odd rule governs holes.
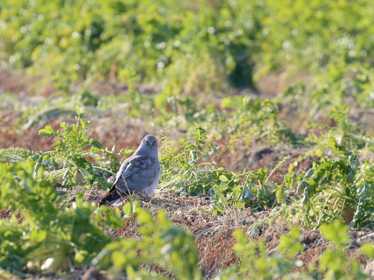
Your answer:
[[[170,189],[188,195],[205,193],[211,196],[211,207],[214,214],[226,212],[228,207],[251,207],[253,211],[273,208],[277,185],[269,181],[269,177],[286,160],[279,162],[268,175],[266,168],[258,171],[246,171],[237,174],[216,168],[209,162],[199,163],[207,158],[210,152],[218,155],[215,147],[205,144],[205,130],[196,128],[195,145],[188,140],[181,139],[181,151],[172,155],[169,137],[164,134],[164,146],[161,151],[160,162],[163,166],[161,174],[162,189]],[[203,168],[201,168],[203,167]]]

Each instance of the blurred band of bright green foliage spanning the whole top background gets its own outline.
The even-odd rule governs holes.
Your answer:
[[[109,76],[130,86],[155,82],[160,108],[182,93],[255,88],[282,69],[315,76],[306,100],[352,96],[373,106],[370,0],[1,2],[1,63],[31,67],[65,91],[72,81]]]

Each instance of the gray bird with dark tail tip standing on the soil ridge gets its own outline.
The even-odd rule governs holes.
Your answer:
[[[135,190],[152,196],[160,180],[160,170],[157,139],[147,135],[134,154],[121,164],[111,190],[100,205],[113,205]]]

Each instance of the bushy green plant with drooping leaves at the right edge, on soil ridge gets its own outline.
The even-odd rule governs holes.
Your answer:
[[[309,226],[319,227],[342,218],[355,227],[363,227],[371,223],[373,217],[373,164],[366,161],[360,166],[357,154],[334,138],[329,146],[339,158],[324,157],[314,161],[313,167],[297,179],[297,192],[303,195],[304,221]],[[294,180],[289,182],[292,184]]]

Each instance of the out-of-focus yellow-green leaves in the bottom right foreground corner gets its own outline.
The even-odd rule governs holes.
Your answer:
[[[300,242],[300,230],[292,227],[288,234],[283,234],[276,250],[267,253],[265,244],[250,239],[242,232],[233,233],[237,240],[234,245],[235,253],[241,259],[240,265],[225,269],[215,279],[361,279],[368,275],[360,268],[357,260],[347,256],[350,249],[348,227],[335,220],[321,227],[323,237],[332,242],[333,247],[326,249],[318,262],[317,269],[313,264],[308,265],[308,271],[303,270],[304,264],[299,255],[304,245]],[[371,254],[372,245],[363,245],[363,251]]]

